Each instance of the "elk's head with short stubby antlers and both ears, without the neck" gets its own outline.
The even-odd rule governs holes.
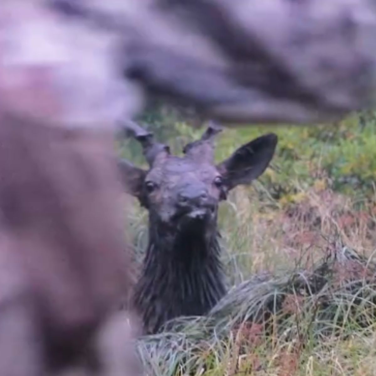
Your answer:
[[[200,140],[187,144],[182,158],[153,141],[151,133],[134,123],[126,129],[142,144],[148,171],[121,160],[126,190],[150,212],[150,221],[166,231],[215,229],[218,203],[239,184],[260,176],[273,157],[277,136],[263,135],[215,164],[213,140],[221,129],[211,123]]]

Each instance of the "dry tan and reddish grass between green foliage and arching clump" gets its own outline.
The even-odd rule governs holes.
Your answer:
[[[238,188],[221,208],[221,227],[235,281],[255,273],[310,268],[341,241],[370,257],[376,249],[376,199],[355,202],[329,182],[306,190],[297,185],[291,202],[259,200],[261,188]],[[375,196],[376,198],[376,196]]]

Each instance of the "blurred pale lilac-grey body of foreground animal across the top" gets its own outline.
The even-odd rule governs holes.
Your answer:
[[[150,96],[223,124],[321,122],[374,104],[372,0],[2,3],[3,100],[65,126],[109,127]]]

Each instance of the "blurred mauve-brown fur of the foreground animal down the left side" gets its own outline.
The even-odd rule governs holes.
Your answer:
[[[0,140],[2,374],[94,367],[131,287],[112,138],[2,113]]]

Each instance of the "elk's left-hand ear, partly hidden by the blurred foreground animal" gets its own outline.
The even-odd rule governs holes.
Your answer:
[[[118,159],[120,168],[121,181],[123,182],[124,191],[135,196],[143,202],[143,183],[147,171],[138,168],[128,162],[126,159]]]

